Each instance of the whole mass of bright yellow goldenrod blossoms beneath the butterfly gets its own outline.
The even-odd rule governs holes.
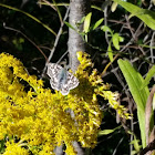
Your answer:
[[[68,155],[76,155],[74,141],[94,147],[102,121],[96,95],[107,99],[124,115],[124,107],[115,106],[114,93],[105,91],[110,85],[92,70],[89,55],[78,52],[78,59],[81,64],[75,75],[80,84],[63,96],[43,89],[43,81],[29,75],[19,60],[0,54],[0,140],[7,135],[9,141],[4,155],[54,155],[54,148],[62,144]],[[27,147],[11,140],[21,140]]]

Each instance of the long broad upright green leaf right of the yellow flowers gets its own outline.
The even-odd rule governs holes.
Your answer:
[[[118,66],[128,84],[130,91],[137,105],[137,116],[141,130],[141,138],[143,148],[146,146],[145,137],[145,105],[149,94],[148,87],[145,86],[141,90],[141,85],[144,82],[142,75],[131,65],[127,60],[118,60]]]

